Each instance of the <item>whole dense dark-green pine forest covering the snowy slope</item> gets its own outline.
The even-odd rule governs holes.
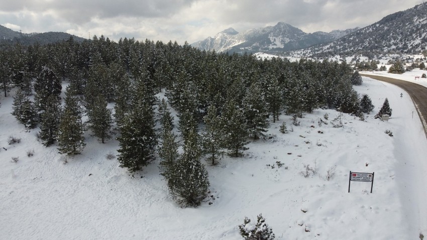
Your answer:
[[[161,173],[182,206],[197,206],[207,194],[201,156],[212,164],[223,154],[241,156],[283,112],[296,122],[318,107],[363,117],[346,62],[258,60],[103,36],[15,45],[0,54],[2,94],[19,88],[13,114],[23,128],[39,125],[41,142],[57,144],[64,155],[84,151],[84,131],[102,144],[115,129],[121,167],[139,171],[160,157]],[[69,84],[61,99],[64,81]],[[168,102],[155,97],[161,91]],[[169,106],[178,111],[179,136]]]

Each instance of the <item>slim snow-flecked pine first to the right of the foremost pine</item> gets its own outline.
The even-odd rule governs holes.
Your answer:
[[[215,105],[212,104],[207,108],[207,114],[203,117],[203,121],[205,125],[202,132],[203,152],[209,156],[207,159],[212,162],[212,165],[215,165],[224,155],[221,150],[224,133],[221,117],[218,115],[218,109]]]

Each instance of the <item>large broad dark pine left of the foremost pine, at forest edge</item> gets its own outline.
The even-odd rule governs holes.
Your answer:
[[[141,170],[154,160],[157,139],[151,98],[144,83],[140,82],[129,113],[124,116],[120,126],[122,135],[117,138],[120,145],[118,161],[120,167],[130,172]]]

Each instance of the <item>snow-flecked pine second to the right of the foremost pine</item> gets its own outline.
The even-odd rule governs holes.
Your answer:
[[[234,100],[229,100],[221,116],[224,127],[224,147],[230,152],[231,157],[240,157],[242,151],[248,150],[248,130],[245,122],[243,110],[240,109]]]

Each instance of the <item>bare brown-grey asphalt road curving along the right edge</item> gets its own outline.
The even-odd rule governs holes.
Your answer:
[[[403,90],[405,90],[409,96],[412,98],[412,101],[415,104],[416,111],[418,112],[419,119],[421,120],[422,127],[424,128],[425,137],[427,137],[427,87],[421,86],[416,83],[398,80],[390,77],[376,76],[369,74],[360,74],[361,76],[370,77],[375,80],[388,82],[394,84]]]

